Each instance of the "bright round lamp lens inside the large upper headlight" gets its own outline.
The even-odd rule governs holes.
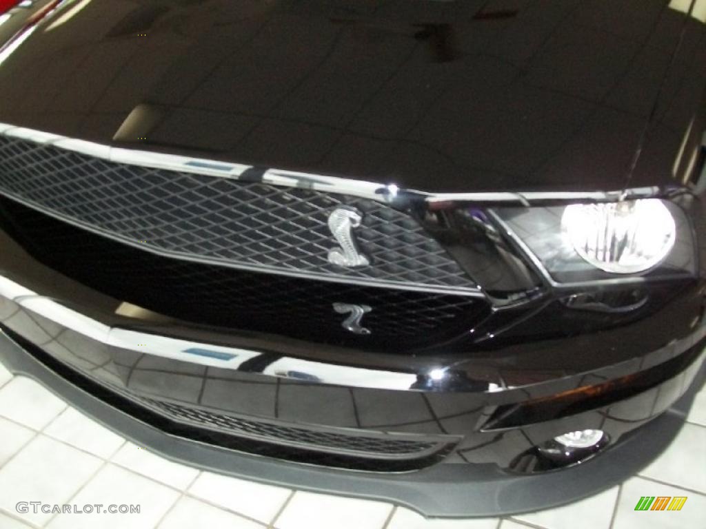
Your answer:
[[[569,205],[561,226],[578,255],[614,274],[654,267],[676,240],[674,217],[661,200],[651,198]]]

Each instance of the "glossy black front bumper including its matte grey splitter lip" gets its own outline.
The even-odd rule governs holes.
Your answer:
[[[31,267],[22,274],[32,278]],[[303,360],[258,350],[254,339],[136,324],[80,286],[69,299],[64,281],[0,277],[0,360],[11,371],[167,458],[426,516],[544,509],[610,487],[669,444],[703,378],[702,326],[591,372],[440,388],[371,358]],[[414,360],[407,364],[419,370],[433,361]],[[587,428],[604,430],[609,447],[580,465],[532,473],[534,446]]]

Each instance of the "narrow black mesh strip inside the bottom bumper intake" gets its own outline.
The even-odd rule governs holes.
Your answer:
[[[441,448],[438,442],[395,439],[391,436],[387,438],[367,437],[353,432],[341,434],[325,430],[306,430],[304,428],[214,413],[179,403],[148,399],[141,396],[137,398],[179,420],[195,422],[198,425],[224,430],[231,434],[261,437],[269,439],[271,442],[297,443],[309,449],[339,449],[359,452],[368,456],[419,456],[434,449],[434,447]]]

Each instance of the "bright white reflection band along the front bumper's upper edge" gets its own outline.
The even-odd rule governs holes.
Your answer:
[[[41,296],[2,275],[0,298],[108,347],[235,371],[247,360],[263,354],[249,349],[217,346],[111,327],[61,305],[52,298]],[[194,349],[202,353],[194,354]],[[212,354],[203,354],[203,351]],[[417,375],[412,372],[375,370],[288,357],[269,364],[261,374],[294,380],[301,380],[304,375],[304,379],[310,382],[373,389],[410,389],[417,382]]]

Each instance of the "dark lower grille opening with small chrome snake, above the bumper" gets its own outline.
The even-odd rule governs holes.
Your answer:
[[[0,227],[37,260],[112,298],[193,323],[282,334],[340,346],[409,354],[467,334],[484,300],[335,284],[172,259],[71,226],[0,197]],[[334,303],[369,305],[347,332]],[[462,346],[459,346],[462,348]]]

